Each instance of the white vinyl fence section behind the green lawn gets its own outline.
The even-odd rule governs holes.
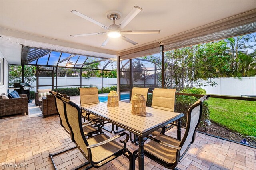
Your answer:
[[[254,77],[240,77],[240,78],[212,78],[207,81],[214,81],[218,85],[202,87],[206,90],[207,94],[214,95],[228,95],[228,96],[241,96],[241,95],[256,95],[256,76]]]

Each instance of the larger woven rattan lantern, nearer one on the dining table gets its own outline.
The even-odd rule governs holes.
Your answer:
[[[146,115],[146,100],[142,94],[134,95],[132,99],[132,115]]]

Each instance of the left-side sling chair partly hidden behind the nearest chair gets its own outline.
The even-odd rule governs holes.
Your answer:
[[[51,92],[52,95],[55,96],[55,104],[56,104],[56,110],[58,112],[58,115],[60,117],[60,125],[64,128],[64,130],[69,134],[70,134],[70,125],[67,121],[67,115],[66,115],[66,104],[63,102],[63,101],[66,101],[66,102],[69,102],[70,100],[64,98],[61,94],[59,93],[56,93],[54,91]],[[93,122],[90,121],[90,122],[86,122],[84,123],[83,125],[87,125],[87,126],[84,126],[83,127],[83,130],[84,130],[84,135],[85,136],[92,136],[93,134],[100,134],[101,133],[101,128],[103,127],[104,125],[104,122],[101,120],[101,119],[97,119],[97,120],[94,120]],[[96,127],[94,127],[93,125],[96,125]],[[49,154],[49,157],[52,161],[52,164],[54,166],[54,169],[57,170],[57,167],[54,163],[54,160],[53,160],[53,157],[58,155],[58,154],[61,154],[63,152],[66,152],[68,150],[72,150],[76,148],[76,146],[72,147],[72,148],[68,148],[66,150],[62,150],[60,152],[56,152],[54,154]],[[81,164],[79,166],[76,166],[74,169],[78,169],[78,168],[81,168],[82,166],[84,166],[85,164]]]

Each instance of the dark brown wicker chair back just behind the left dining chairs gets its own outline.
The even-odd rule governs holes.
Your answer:
[[[67,94],[62,94],[66,99],[70,99]],[[57,114],[56,105],[55,105],[55,97],[54,95],[47,95],[42,97],[42,113],[43,117]]]

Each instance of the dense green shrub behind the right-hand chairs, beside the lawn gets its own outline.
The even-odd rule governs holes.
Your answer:
[[[146,105],[151,107],[152,104],[152,93],[148,93],[148,99]],[[191,105],[193,105],[198,100],[197,97],[193,96],[184,96],[184,95],[177,95],[176,101],[175,101],[175,112],[184,113],[184,117],[182,117],[182,126],[186,126],[187,122],[187,113],[188,109]],[[204,102],[203,109],[202,109],[202,117],[199,124],[199,127],[203,126],[203,120],[209,119],[210,111],[209,111],[209,105],[207,102]]]

